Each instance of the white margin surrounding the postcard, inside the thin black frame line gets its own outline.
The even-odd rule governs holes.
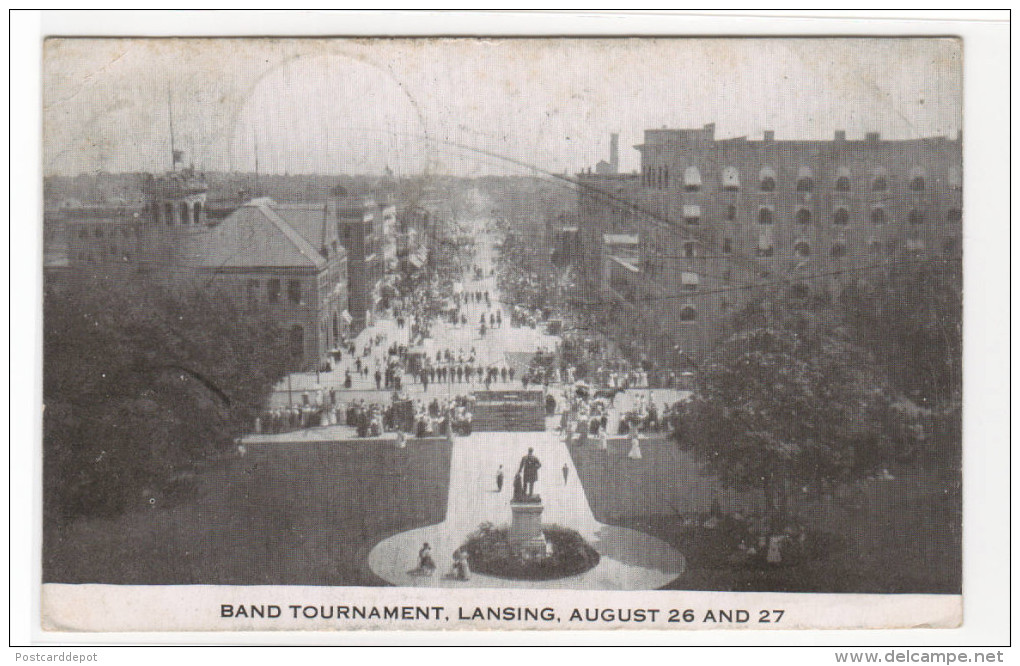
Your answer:
[[[765,13],[765,12],[762,12]],[[787,14],[794,12],[785,12]],[[308,633],[104,633],[75,634],[40,630],[41,492],[39,479],[41,396],[41,167],[39,159],[39,62],[44,35],[940,35],[964,39],[965,82],[965,451],[964,451],[964,624],[958,629],[862,631],[698,631],[668,633],[659,638],[642,634],[643,643],[699,645],[996,645],[1009,637],[1009,599],[1004,594],[1009,576],[1009,477],[1005,465],[1009,448],[1009,358],[1007,309],[1009,298],[1009,136],[1008,81],[1009,25],[1002,14],[958,15],[937,12],[897,12],[894,18],[877,12],[856,12],[850,18],[798,11],[796,16],[734,14],[678,15],[669,12],[596,14],[557,12],[448,14],[349,14],[343,12],[282,12],[271,16],[253,12],[184,13],[130,12],[120,14],[60,12],[11,17],[11,127],[10,274],[14,328],[9,368],[13,392],[10,452],[12,465],[11,622],[13,642],[38,644],[252,644],[252,643],[444,643],[442,634],[405,632]],[[806,17],[808,14],[813,17]],[[854,12],[839,12],[847,16]],[[960,14],[960,12],[956,12]],[[831,16],[832,14],[828,14]],[[965,17],[966,18],[966,17]],[[976,19],[975,19],[976,18]],[[1008,21],[1008,16],[1006,19]],[[31,287],[30,287],[31,286]],[[13,287],[13,285],[9,285]],[[10,321],[8,323],[11,323]],[[28,353],[32,350],[32,353]],[[32,498],[33,512],[23,509]],[[31,546],[31,548],[30,548]],[[31,572],[31,573],[30,573]],[[31,612],[26,612],[27,609]],[[620,632],[537,632],[528,641],[548,644],[626,643]],[[314,636],[314,637],[313,637]],[[458,632],[458,642],[519,643],[519,635],[502,632]]]

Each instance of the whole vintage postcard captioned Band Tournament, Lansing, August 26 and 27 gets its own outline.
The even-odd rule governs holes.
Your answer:
[[[959,626],[963,62],[47,39],[43,627]]]

